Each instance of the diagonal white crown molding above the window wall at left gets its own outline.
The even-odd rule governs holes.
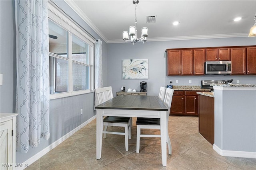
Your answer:
[[[72,0],[64,0],[78,16],[82,18],[91,28],[93,31],[95,31],[106,43],[108,42],[107,38],[102,34],[102,32],[92,23],[92,21],[80,10],[80,8],[72,1]]]

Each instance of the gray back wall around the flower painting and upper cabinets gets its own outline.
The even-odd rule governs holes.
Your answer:
[[[150,36],[150,35],[149,35]],[[172,85],[194,85],[200,86],[201,80],[231,80],[236,84],[256,84],[255,75],[203,75],[203,76],[166,76],[166,49],[172,48],[192,48],[192,47],[221,47],[256,45],[256,37],[241,38],[219,38],[219,39],[197,39],[183,41],[156,41],[143,43],[115,43],[108,44],[108,74],[107,85],[112,86],[113,92],[120,91],[122,86],[140,90],[140,82],[147,82],[148,95],[158,95],[160,86]],[[122,59],[148,59],[148,79],[122,79]],[[178,80],[178,83],[176,83]],[[189,84],[189,80],[192,83]],[[115,96],[115,94],[114,94]]]

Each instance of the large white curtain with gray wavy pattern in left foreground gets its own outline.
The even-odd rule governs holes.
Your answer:
[[[16,149],[23,153],[50,137],[47,4],[47,0],[15,0]]]

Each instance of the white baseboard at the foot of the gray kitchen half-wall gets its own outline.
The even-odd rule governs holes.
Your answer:
[[[244,151],[235,151],[235,150],[222,150],[215,144],[213,144],[213,149],[220,154],[221,156],[232,156],[232,157],[241,157],[241,158],[254,158],[256,159],[256,152],[244,152]]]

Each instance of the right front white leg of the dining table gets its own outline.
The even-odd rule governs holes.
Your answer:
[[[160,126],[161,126],[161,149],[162,149],[162,164],[163,166],[167,165],[166,158],[166,134],[167,134],[167,122],[166,122],[166,113],[167,111],[160,111]]]

